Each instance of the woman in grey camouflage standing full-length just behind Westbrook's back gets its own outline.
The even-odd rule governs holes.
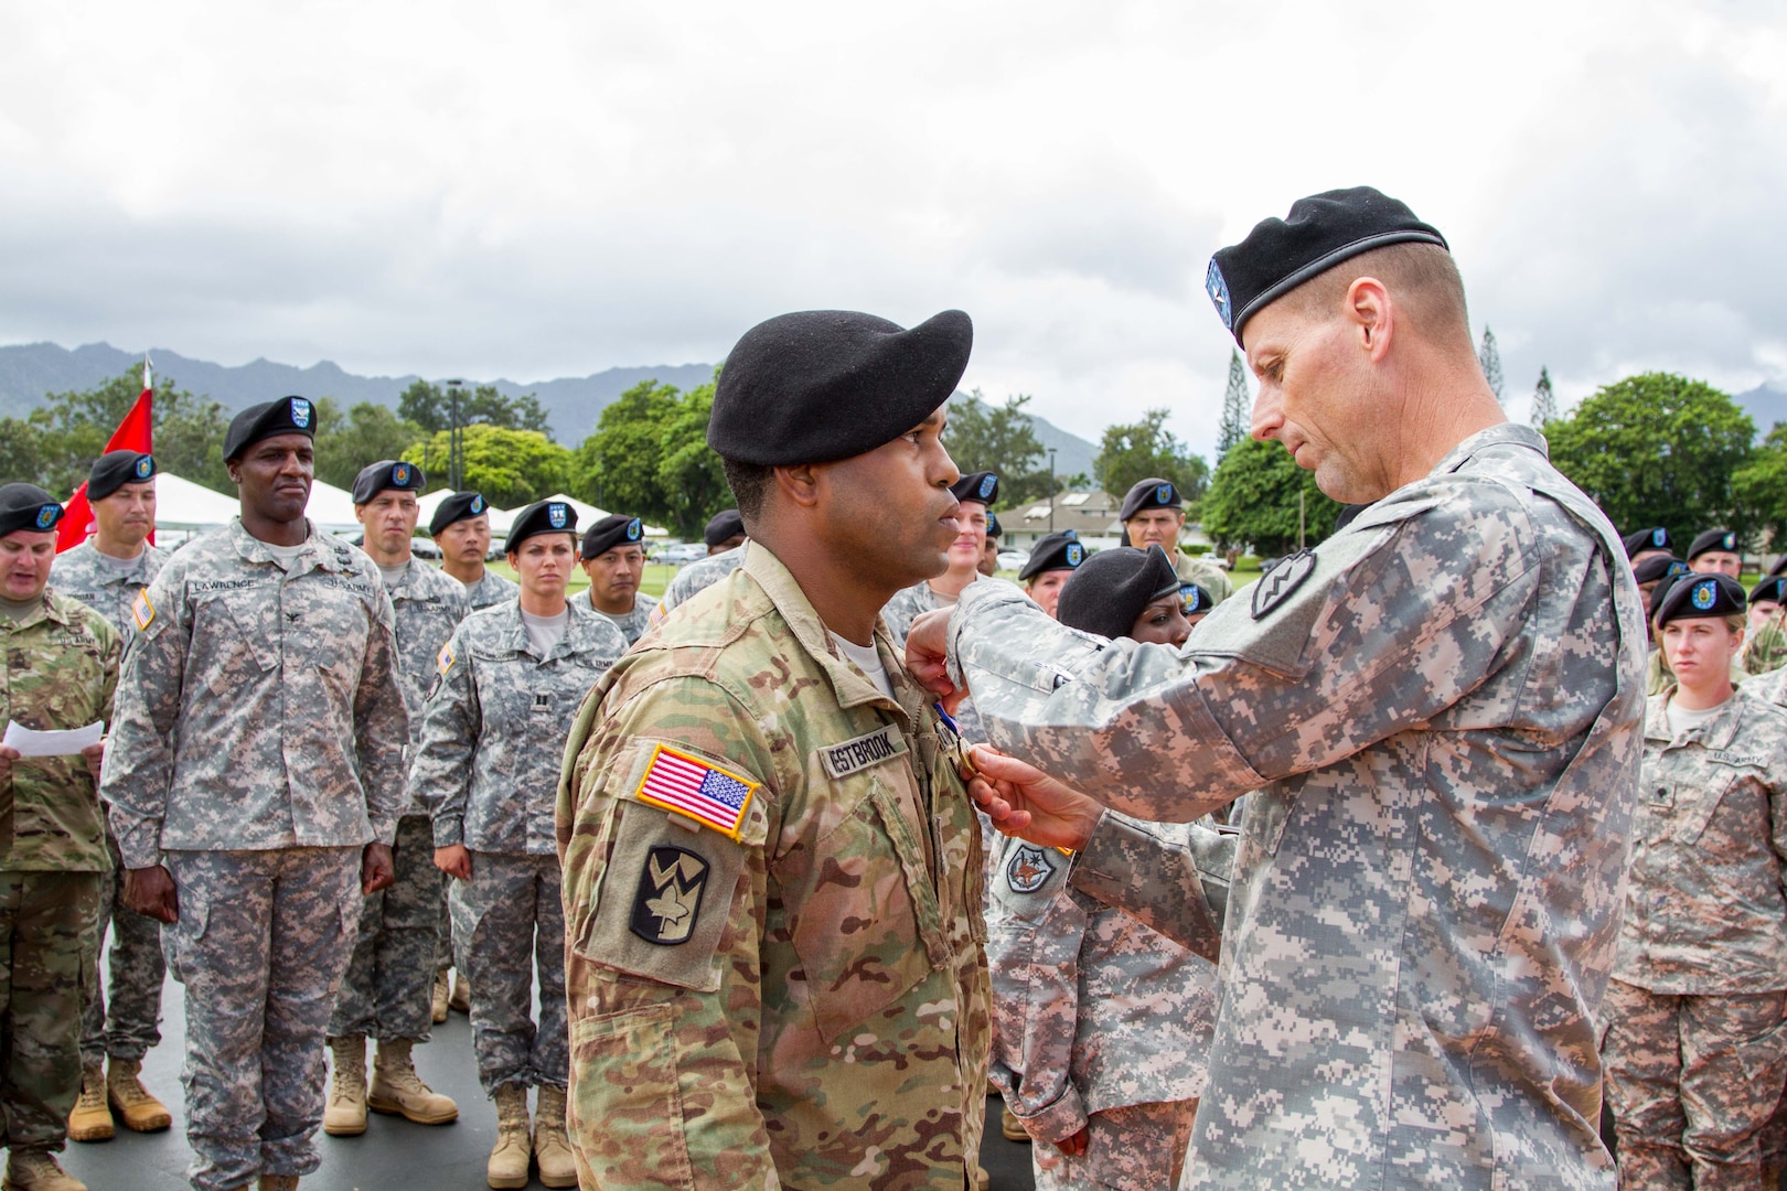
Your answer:
[[[436,868],[457,879],[449,893],[454,959],[472,984],[477,1077],[497,1100],[488,1182],[527,1186],[527,1089],[536,1086],[540,1182],[575,1187],[565,1136],[570,1039],[552,809],[577,705],[627,652],[627,639],[586,600],[565,598],[577,566],[570,505],[522,509],[508,546],[520,593],[459,621],[441,650],[409,786],[434,816]],[[534,964],[538,1023],[529,1012]]]

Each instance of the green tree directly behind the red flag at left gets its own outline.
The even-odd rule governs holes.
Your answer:
[[[45,396],[45,404],[25,420],[36,430],[38,473],[32,482],[57,498],[73,493],[141,393],[143,373],[130,368],[95,389]],[[222,405],[175,387],[173,377],[155,377],[154,436],[161,470],[234,496],[236,486],[223,470],[227,429],[229,414]]]

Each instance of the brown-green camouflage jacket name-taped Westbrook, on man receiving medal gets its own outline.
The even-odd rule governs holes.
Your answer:
[[[979,827],[952,737],[886,625],[876,639],[892,700],[752,543],[579,712],[558,827],[584,1186],[972,1175]],[[649,802],[659,748],[751,786],[736,836]]]

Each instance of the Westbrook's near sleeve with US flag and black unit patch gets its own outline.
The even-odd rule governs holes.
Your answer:
[[[583,1186],[779,1186],[756,1105],[768,745],[701,679],[606,711],[584,707],[559,823]],[[672,777],[706,773],[724,798],[747,791],[734,832],[726,811],[715,825],[656,805]]]

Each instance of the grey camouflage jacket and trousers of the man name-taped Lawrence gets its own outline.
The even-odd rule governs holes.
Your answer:
[[[391,598],[315,527],[279,562],[241,521],[182,546],[132,612],[104,791],[127,868],[166,864],[200,1191],[316,1170],[323,1032],[391,843],[409,721]]]

